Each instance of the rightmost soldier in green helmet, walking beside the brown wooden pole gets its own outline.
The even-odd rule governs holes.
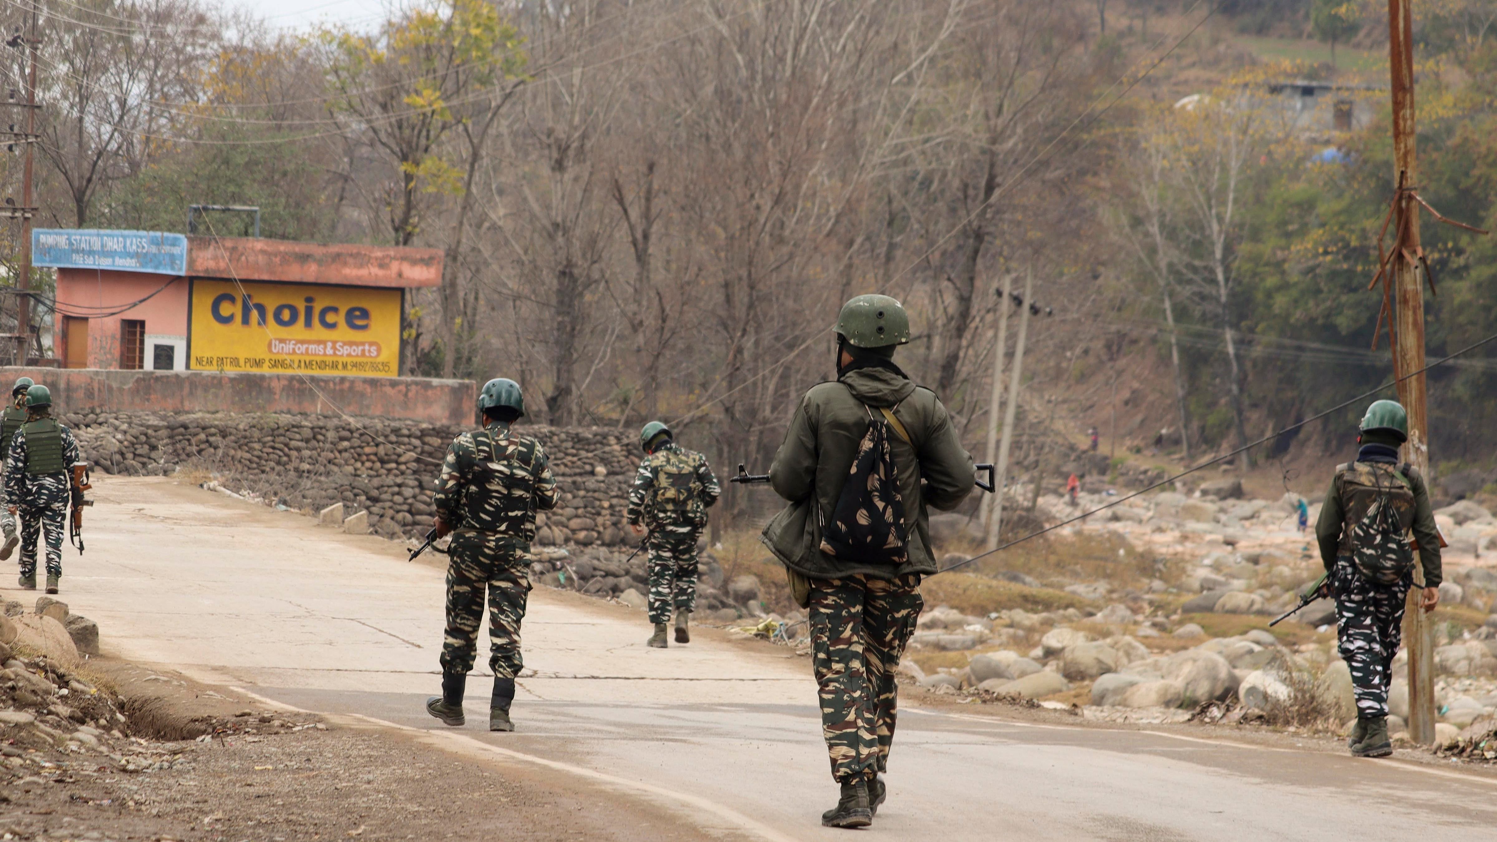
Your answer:
[[[1424,566],[1421,605],[1433,611],[1440,602],[1440,535],[1430,491],[1413,466],[1398,464],[1398,445],[1407,439],[1409,417],[1403,406],[1374,402],[1362,418],[1356,461],[1335,469],[1314,529],[1320,560],[1331,574],[1326,589],[1335,596],[1341,658],[1350,668],[1356,695],[1349,746],[1358,757],[1392,754],[1388,686],[1413,586],[1409,535],[1418,541]],[[1379,505],[1388,514],[1382,530],[1368,526],[1377,518]],[[1383,532],[1388,535],[1379,541]],[[1392,562],[1382,562],[1385,557]],[[1407,569],[1400,569],[1404,560]]]

